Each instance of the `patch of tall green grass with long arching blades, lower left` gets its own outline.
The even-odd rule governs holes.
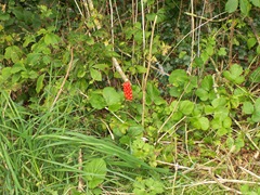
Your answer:
[[[6,92],[1,94],[1,194],[68,193],[77,187],[80,176],[88,174],[79,169],[79,150],[83,165],[96,157],[106,161],[108,173],[104,183],[110,187],[120,188],[140,174],[148,176],[147,172],[166,172],[151,168],[109,139],[88,135],[92,131],[88,119],[78,123],[74,120],[77,110],[66,109],[73,100],[57,102],[52,112],[34,114],[14,103]]]

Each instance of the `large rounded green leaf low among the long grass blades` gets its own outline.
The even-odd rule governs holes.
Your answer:
[[[106,162],[102,158],[92,159],[84,165],[84,179],[89,188],[95,188],[104,182],[107,169]]]

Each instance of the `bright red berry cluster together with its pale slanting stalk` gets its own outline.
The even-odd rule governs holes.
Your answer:
[[[128,80],[127,76],[122,72],[119,63],[115,57],[112,58],[114,66],[116,67],[116,70],[120,74],[123,84],[122,84],[122,90],[125,94],[125,99],[128,101],[132,101],[132,88],[131,88],[131,82]]]

